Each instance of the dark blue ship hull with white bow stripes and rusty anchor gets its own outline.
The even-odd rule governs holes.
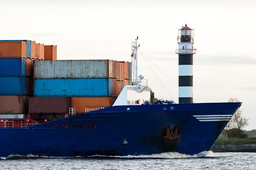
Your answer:
[[[197,154],[208,151],[228,123],[207,117],[233,115],[240,105],[112,106],[27,128],[0,128],[0,156]]]

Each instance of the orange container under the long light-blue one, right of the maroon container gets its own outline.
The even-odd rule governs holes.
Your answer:
[[[85,112],[85,107],[111,106],[112,97],[72,97],[71,107],[76,108],[76,113]]]

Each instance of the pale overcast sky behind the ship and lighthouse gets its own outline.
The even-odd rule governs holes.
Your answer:
[[[187,23],[197,49],[194,101],[236,97],[250,119],[245,129],[256,129],[255,0],[0,0],[0,7],[0,39],[58,45],[58,59],[130,61],[139,36],[140,51],[175,82],[150,64],[176,102],[177,30]],[[141,55],[138,62],[156,97],[171,99]]]

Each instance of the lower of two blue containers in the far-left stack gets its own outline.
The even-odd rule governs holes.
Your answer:
[[[26,95],[26,77],[0,77],[0,95]]]

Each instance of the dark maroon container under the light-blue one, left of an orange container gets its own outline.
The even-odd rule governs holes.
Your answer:
[[[69,97],[31,97],[28,106],[30,114],[67,114],[71,107],[71,99]]]

